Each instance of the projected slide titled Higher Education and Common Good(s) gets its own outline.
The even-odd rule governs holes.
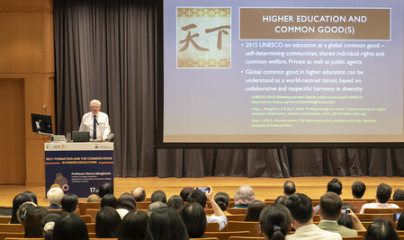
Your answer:
[[[163,143],[404,142],[402,0],[163,0],[163,13]]]

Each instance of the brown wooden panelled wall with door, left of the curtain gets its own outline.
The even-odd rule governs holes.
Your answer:
[[[0,32],[0,184],[44,184],[31,113],[55,119],[52,0],[0,0]]]

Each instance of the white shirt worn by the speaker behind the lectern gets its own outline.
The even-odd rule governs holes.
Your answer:
[[[108,115],[102,111],[98,111],[95,118],[98,122],[97,124],[97,139],[106,139],[111,133],[110,120]],[[80,131],[89,131],[90,138],[93,139],[93,126],[94,126],[94,114],[92,111],[85,113],[80,124]]]

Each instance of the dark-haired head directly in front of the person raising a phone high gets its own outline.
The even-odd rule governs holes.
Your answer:
[[[180,211],[180,217],[183,219],[188,236],[200,238],[206,230],[205,210],[198,203],[188,203]]]

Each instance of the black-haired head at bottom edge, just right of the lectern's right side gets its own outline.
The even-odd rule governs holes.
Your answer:
[[[143,240],[148,228],[148,214],[132,210],[121,221],[120,240]]]

